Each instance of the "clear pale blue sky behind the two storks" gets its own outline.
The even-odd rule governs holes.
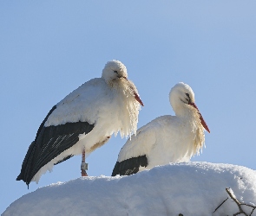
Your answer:
[[[139,127],[174,114],[168,92],[183,81],[211,134],[193,161],[256,169],[255,1],[0,2],[0,213],[38,187],[80,177],[75,156],[39,184],[16,181],[49,109],[121,60],[144,103]],[[125,139],[89,156],[89,175],[111,175]],[[86,195],[86,194],[85,194]]]

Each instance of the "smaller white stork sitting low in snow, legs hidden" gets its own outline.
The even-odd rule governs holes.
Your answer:
[[[205,143],[204,129],[210,133],[194,104],[194,92],[185,83],[169,93],[176,116],[161,116],[144,125],[121,148],[112,176],[132,175],[169,162],[188,162]]]

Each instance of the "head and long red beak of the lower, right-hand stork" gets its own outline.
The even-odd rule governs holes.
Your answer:
[[[176,84],[171,89],[171,92],[169,93],[169,99],[170,99],[170,103],[174,109],[174,112],[177,116],[184,115],[184,113],[188,109],[187,105],[190,105],[191,107],[193,107],[193,109],[195,109],[200,116],[200,122],[201,122],[202,126],[205,128],[205,130],[210,132],[204,118],[202,117],[199,109],[197,108],[197,106],[194,103],[194,92],[190,86],[188,86],[187,84],[185,84],[183,82]]]

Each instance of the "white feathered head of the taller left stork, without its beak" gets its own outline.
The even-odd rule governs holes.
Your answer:
[[[112,82],[114,79],[127,79],[127,69],[121,61],[110,60],[102,70],[102,78],[105,79],[107,83]]]

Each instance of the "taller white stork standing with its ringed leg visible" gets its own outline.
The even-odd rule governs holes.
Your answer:
[[[49,111],[23,160],[20,175],[28,186],[57,163],[89,154],[111,135],[131,136],[137,130],[139,93],[119,60],[108,61],[102,77],[90,79]],[[86,175],[84,158],[82,175]]]

